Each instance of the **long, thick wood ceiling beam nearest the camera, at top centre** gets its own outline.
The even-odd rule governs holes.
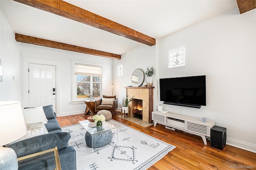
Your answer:
[[[108,20],[102,16],[64,2],[62,0],[14,0],[40,10],[44,10],[71,20],[75,20],[89,26],[117,34],[134,40],[136,42],[144,43],[153,46],[156,44],[156,39],[146,36],[140,32],[132,30],[126,26]]]

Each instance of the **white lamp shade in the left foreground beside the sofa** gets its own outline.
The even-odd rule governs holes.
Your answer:
[[[0,101],[0,146],[14,142],[26,134],[19,101]]]

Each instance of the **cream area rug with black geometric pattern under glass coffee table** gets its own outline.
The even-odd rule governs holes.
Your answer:
[[[62,132],[71,134],[69,145],[76,149],[77,170],[146,170],[176,148],[117,121],[108,123],[117,127],[117,134],[112,135],[117,143],[110,142],[104,149],[86,145],[82,125],[62,128]]]

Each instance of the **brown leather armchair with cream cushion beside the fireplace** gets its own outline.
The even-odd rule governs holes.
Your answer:
[[[116,115],[116,109],[118,107],[118,99],[116,96],[103,95],[102,99],[94,101],[95,113],[101,110],[108,110],[112,115]]]

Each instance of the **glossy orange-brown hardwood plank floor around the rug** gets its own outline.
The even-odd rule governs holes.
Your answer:
[[[112,119],[176,146],[174,150],[148,170],[256,169],[256,153],[254,152],[230,145],[226,145],[224,150],[219,150],[211,147],[208,140],[208,145],[204,145],[200,136],[173,131],[163,125],[144,128],[121,119],[118,115],[121,114],[116,112]],[[84,114],[58,117],[57,119],[61,127],[78,124],[78,121],[86,120]]]

